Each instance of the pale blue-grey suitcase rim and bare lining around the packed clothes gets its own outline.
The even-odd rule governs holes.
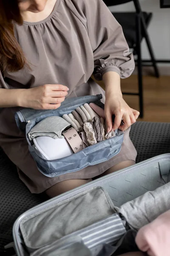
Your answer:
[[[66,198],[76,195],[79,192],[94,186],[103,187],[111,197],[116,207],[121,206],[127,201],[143,195],[145,192],[155,190],[169,181],[170,154],[160,155],[138,163],[127,169],[120,170],[111,175],[94,180],[87,185],[80,186],[77,189],[66,192],[56,198],[42,203],[21,215],[14,224],[13,237],[18,256],[28,255],[20,239],[20,221],[30,214],[44,209],[54,203],[58,203]],[[169,175],[170,176],[170,175]]]

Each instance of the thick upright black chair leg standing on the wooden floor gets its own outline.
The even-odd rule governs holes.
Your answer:
[[[141,52],[141,15],[136,14],[136,52],[138,55],[138,86],[139,86],[139,107],[140,117],[144,116],[143,106],[143,76],[142,76],[142,52]]]

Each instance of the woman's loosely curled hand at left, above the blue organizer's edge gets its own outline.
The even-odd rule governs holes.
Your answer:
[[[57,109],[68,95],[68,87],[61,84],[45,84],[18,93],[18,105],[23,108]]]

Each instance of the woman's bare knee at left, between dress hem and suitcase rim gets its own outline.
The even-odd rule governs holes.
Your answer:
[[[67,192],[71,189],[75,189],[78,186],[84,185],[88,182],[90,182],[92,179],[82,180],[82,179],[75,179],[75,180],[64,180],[59,183],[56,183],[55,185],[51,186],[49,189],[47,189],[45,192],[50,197],[53,198],[57,195],[60,195],[64,192]]]

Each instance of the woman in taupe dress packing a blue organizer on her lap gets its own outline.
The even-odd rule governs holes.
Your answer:
[[[120,77],[130,76],[133,69],[122,28],[102,0],[0,0],[0,146],[32,193],[45,191],[54,197],[135,163],[129,131],[139,112],[125,103],[120,88]],[[92,73],[103,79],[105,96]],[[108,131],[127,130],[121,152],[78,172],[54,178],[42,175],[14,113],[20,107],[56,109],[65,97],[99,93],[105,101]]]

